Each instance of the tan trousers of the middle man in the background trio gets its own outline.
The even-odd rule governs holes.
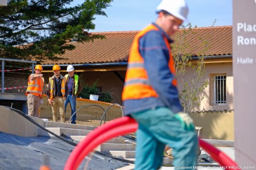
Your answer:
[[[65,110],[64,110],[64,99],[63,97],[54,97],[52,99],[52,119],[53,122],[57,122],[57,108],[59,107],[60,111],[60,122],[65,122]]]

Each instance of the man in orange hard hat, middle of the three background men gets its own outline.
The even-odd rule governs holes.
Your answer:
[[[49,78],[46,95],[48,103],[52,107],[53,122],[57,122],[57,107],[60,112],[60,122],[65,122],[64,100],[68,96],[68,86],[65,77],[60,74],[60,66],[54,65],[52,67],[54,75]]]

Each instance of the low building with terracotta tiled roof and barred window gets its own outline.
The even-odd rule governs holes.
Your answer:
[[[67,51],[61,56],[64,59],[59,61],[44,62],[44,74],[46,77],[51,76],[51,68],[55,64],[59,64],[63,68],[62,72],[65,72],[67,65],[72,64],[76,74],[82,76],[85,84],[92,85],[98,80],[98,87],[102,91],[110,91],[113,94],[113,103],[122,104],[121,94],[127,59],[130,46],[138,32],[94,32],[93,34],[104,35],[105,39],[85,42],[84,44],[70,42],[76,46],[75,50]],[[205,88],[205,99],[197,111],[232,110],[232,26],[192,28],[192,31],[189,31],[183,41],[184,35],[184,30],[180,29],[171,37],[175,41],[172,48],[179,46],[182,42],[182,44],[187,44],[184,46],[184,53],[190,54],[195,59],[200,56],[207,58],[205,60],[205,79],[209,81],[210,85]],[[175,55],[177,52],[174,50]],[[217,82],[211,82],[212,79],[217,80]],[[179,78],[178,82],[180,82]],[[221,88],[225,86],[226,90],[220,91],[217,86]],[[181,84],[179,87],[182,88]],[[221,95],[218,95],[218,92],[221,92]]]

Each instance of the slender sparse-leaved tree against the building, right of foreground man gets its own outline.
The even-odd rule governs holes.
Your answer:
[[[215,22],[216,20],[213,25]],[[200,50],[196,54],[199,57],[196,57],[196,59],[193,59],[195,56],[188,52],[191,44],[187,41],[187,37],[191,35],[201,41],[201,46],[198,48]],[[175,40],[178,43],[172,45],[172,52],[175,54],[176,77],[180,76],[182,82],[179,83],[183,84],[179,97],[186,113],[191,113],[193,108],[200,106],[204,99],[203,91],[209,85],[208,80],[204,79],[205,58],[208,56],[208,50],[210,49],[209,38],[210,34],[204,38],[197,36],[189,23],[186,27],[182,27],[182,32],[179,35],[176,34]],[[187,77],[188,69],[192,70],[192,78]]]

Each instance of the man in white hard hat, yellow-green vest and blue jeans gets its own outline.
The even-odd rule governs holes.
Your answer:
[[[72,65],[67,67],[68,74],[65,75],[68,85],[68,97],[65,100],[65,113],[68,103],[71,107],[71,116],[76,112],[76,97],[82,90],[81,80],[78,75],[74,74],[75,69]],[[73,115],[71,124],[76,124],[76,114]]]

